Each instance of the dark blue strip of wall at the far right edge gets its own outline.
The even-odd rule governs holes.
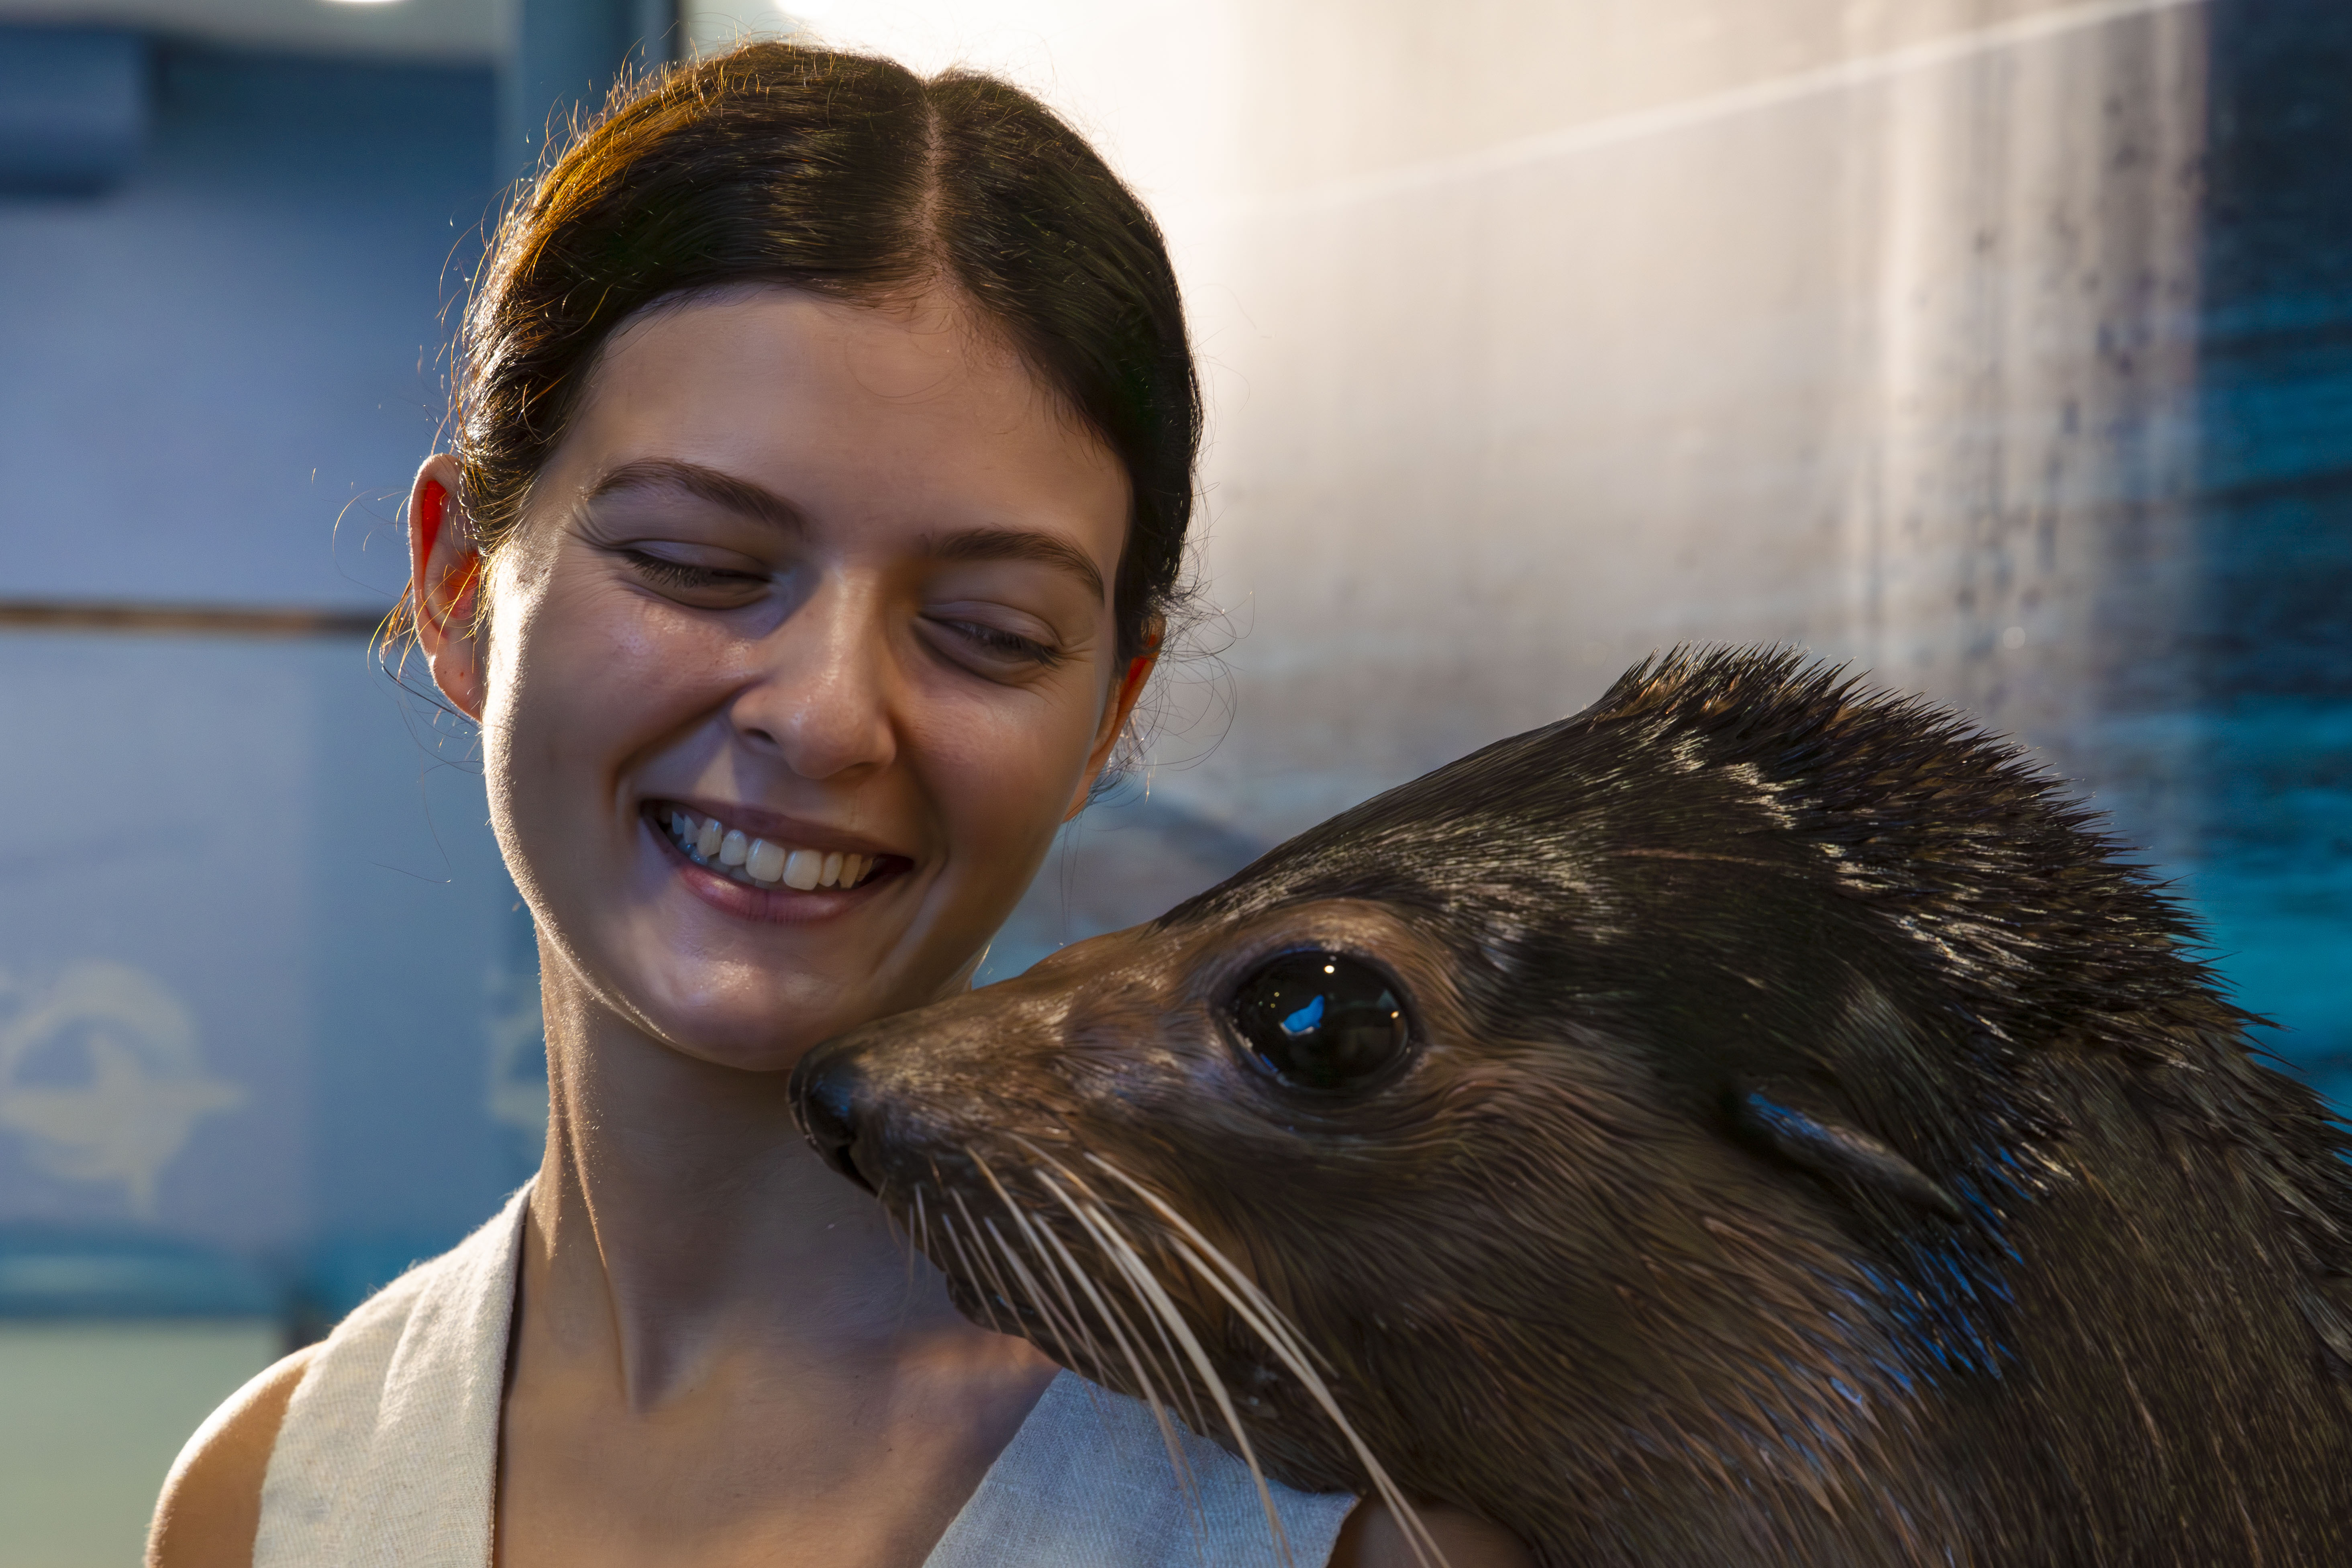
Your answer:
[[[2206,757],[2187,884],[2352,1105],[2352,9],[2216,7],[2199,346]]]

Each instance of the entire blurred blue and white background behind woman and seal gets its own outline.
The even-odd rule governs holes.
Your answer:
[[[983,978],[1780,639],[1962,703],[2352,1095],[2340,0],[0,0],[0,1568],[536,1164],[473,738],[372,656],[510,181],[630,63],[1035,89],[1211,400],[1150,764]]]

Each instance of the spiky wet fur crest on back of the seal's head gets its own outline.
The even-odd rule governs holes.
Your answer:
[[[1682,651],[1578,719],[1642,726],[1693,766],[1748,773],[1825,870],[1955,966],[1994,1039],[2065,1018],[2164,1053],[2237,1027],[2190,957],[2199,931],[2063,780],[1969,719],[1795,651]]]

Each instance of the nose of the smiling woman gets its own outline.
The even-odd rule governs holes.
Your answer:
[[[875,595],[826,583],[753,649],[734,724],[802,778],[880,769],[896,757],[889,628]]]

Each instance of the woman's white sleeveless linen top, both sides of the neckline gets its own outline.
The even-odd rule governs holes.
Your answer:
[[[270,1450],[254,1568],[489,1568],[527,1194],[369,1298],[310,1359]],[[1176,1436],[1192,1497],[1150,1410],[1063,1373],[927,1568],[1275,1568],[1249,1469]],[[1355,1497],[1268,1490],[1289,1561],[1319,1568]]]

